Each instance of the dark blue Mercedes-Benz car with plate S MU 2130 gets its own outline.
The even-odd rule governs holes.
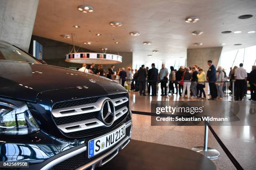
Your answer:
[[[45,65],[0,41],[0,161],[33,170],[102,166],[131,140],[128,99],[112,80]]]

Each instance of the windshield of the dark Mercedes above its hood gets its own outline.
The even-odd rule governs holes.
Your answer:
[[[0,60],[41,63],[26,52],[5,42],[0,41]]]

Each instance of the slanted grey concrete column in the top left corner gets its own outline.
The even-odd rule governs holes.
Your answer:
[[[28,51],[39,0],[0,0],[0,40]]]

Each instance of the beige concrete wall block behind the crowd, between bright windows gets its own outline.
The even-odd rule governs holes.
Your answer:
[[[212,60],[215,67],[218,65],[223,47],[187,49],[187,67],[197,64],[205,71],[208,70],[207,60]]]

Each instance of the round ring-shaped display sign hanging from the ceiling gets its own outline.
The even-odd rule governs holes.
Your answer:
[[[67,54],[65,61],[80,64],[118,64],[122,62],[122,56],[94,52],[77,52]]]

